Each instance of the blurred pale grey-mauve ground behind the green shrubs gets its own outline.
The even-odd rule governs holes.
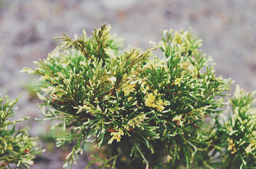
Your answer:
[[[255,0],[0,0],[0,93],[11,99],[23,93],[15,118],[31,116],[20,125],[31,127],[32,136],[49,134],[50,124],[34,121],[42,115],[39,101],[28,90],[38,77],[19,71],[34,68],[34,60],[45,59],[60,45],[53,37],[62,37],[62,32],[81,35],[83,29],[90,34],[104,23],[124,37],[125,47],[142,50],[150,46],[149,40],[160,41],[161,29],[191,26],[203,39],[203,53],[216,63],[217,75],[231,77],[247,91],[256,90]],[[45,153],[32,168],[62,168],[65,151]],[[86,159],[85,154],[72,168],[83,168]]]

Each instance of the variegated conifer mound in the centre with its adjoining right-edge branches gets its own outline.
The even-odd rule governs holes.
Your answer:
[[[216,77],[191,30],[164,30],[146,51],[120,50],[122,38],[109,31],[102,25],[90,37],[64,34],[36,69],[22,70],[41,75],[45,120],[59,119],[57,127],[68,130],[57,146],[75,143],[64,167],[85,144],[98,148],[86,168],[255,167],[253,94],[237,90],[235,114],[222,121],[232,81]]]

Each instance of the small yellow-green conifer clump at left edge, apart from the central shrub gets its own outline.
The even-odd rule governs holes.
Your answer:
[[[0,168],[10,168],[10,163],[15,163],[20,168],[30,168],[34,155],[44,152],[37,146],[36,138],[29,137],[26,129],[16,130],[16,122],[24,121],[29,117],[10,121],[14,115],[15,100],[0,95]]]

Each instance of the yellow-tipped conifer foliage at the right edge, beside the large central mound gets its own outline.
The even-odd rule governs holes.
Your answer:
[[[215,140],[213,153],[219,153],[220,163],[216,168],[255,168],[256,166],[256,91],[243,92],[237,85],[232,99],[229,99],[233,115],[228,121],[216,119],[212,137]],[[222,124],[222,121],[225,123]],[[216,138],[215,138],[216,137]]]

